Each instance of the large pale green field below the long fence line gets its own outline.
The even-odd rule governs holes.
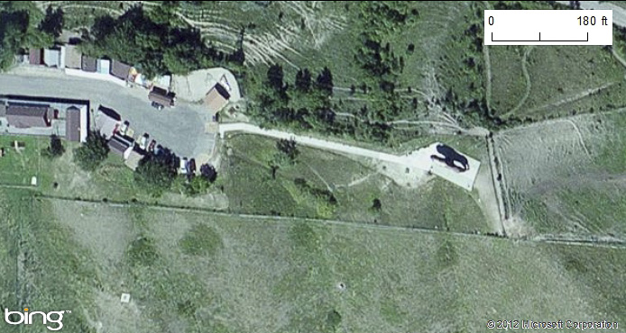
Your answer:
[[[2,213],[22,211],[14,223],[29,260],[18,278],[28,293],[5,302],[72,310],[71,332],[483,332],[501,317],[626,320],[620,249],[7,196],[23,197]]]

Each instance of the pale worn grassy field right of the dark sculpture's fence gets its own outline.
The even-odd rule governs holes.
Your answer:
[[[625,125],[620,110],[496,136],[511,211],[529,234],[626,235]]]

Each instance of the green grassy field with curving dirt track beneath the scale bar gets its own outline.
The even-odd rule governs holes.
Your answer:
[[[492,108],[503,119],[540,121],[626,104],[624,69],[601,47],[491,47],[490,59]]]

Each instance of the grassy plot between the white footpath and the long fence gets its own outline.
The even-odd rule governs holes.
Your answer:
[[[273,179],[268,161],[277,151],[275,142],[251,135],[228,139],[232,155],[222,166],[225,176],[222,184],[230,211],[456,231],[491,230],[476,202],[477,193],[466,193],[438,178],[417,188],[406,188],[382,175],[366,160],[299,147],[298,163],[280,168]],[[473,157],[486,155],[480,141],[474,147],[468,142],[471,140],[466,140],[460,148]],[[337,204],[329,207],[326,202],[303,196],[294,185],[297,178],[306,179],[318,189],[329,190]],[[374,199],[381,201],[380,211],[373,210]]]

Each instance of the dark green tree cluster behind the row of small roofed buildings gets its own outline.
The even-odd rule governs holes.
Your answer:
[[[92,57],[106,56],[139,67],[149,77],[244,63],[241,49],[226,54],[207,45],[198,29],[176,25],[177,6],[178,2],[165,1],[148,12],[135,5],[116,19],[101,16],[82,49]]]

